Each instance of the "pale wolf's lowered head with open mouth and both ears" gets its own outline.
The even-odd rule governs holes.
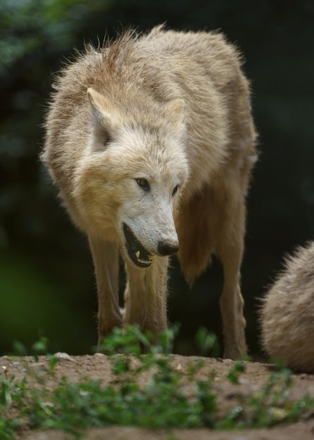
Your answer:
[[[76,176],[89,233],[115,240],[140,267],[178,251],[174,216],[188,179],[184,102],[117,108],[89,89],[91,134]],[[147,105],[146,105],[147,109]]]

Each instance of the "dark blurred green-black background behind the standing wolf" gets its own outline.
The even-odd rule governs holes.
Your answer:
[[[84,235],[60,207],[38,155],[51,74],[73,47],[126,25],[222,30],[246,58],[260,159],[248,200],[242,292],[247,339],[259,354],[256,310],[282,257],[314,231],[314,4],[303,0],[1,0],[0,354],[41,335],[51,351],[96,344],[96,284]],[[221,335],[221,270],[192,291],[174,264],[169,321],[190,354],[199,326]],[[284,304],[282,304],[284,313]]]

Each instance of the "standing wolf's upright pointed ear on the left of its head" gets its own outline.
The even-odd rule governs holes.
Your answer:
[[[96,135],[107,134],[110,138],[119,125],[117,112],[105,96],[94,89],[87,89],[87,96],[91,103],[91,119],[93,132]]]

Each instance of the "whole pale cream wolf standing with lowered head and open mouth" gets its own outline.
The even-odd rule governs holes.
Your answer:
[[[157,337],[166,329],[169,256],[178,253],[192,283],[216,254],[224,353],[245,354],[239,281],[255,137],[241,57],[221,34],[128,31],[65,67],[42,157],[89,238],[99,342],[125,323]]]

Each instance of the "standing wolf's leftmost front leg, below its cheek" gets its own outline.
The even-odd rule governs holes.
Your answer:
[[[119,309],[119,247],[89,235],[98,291],[98,345],[115,327],[122,327]]]

